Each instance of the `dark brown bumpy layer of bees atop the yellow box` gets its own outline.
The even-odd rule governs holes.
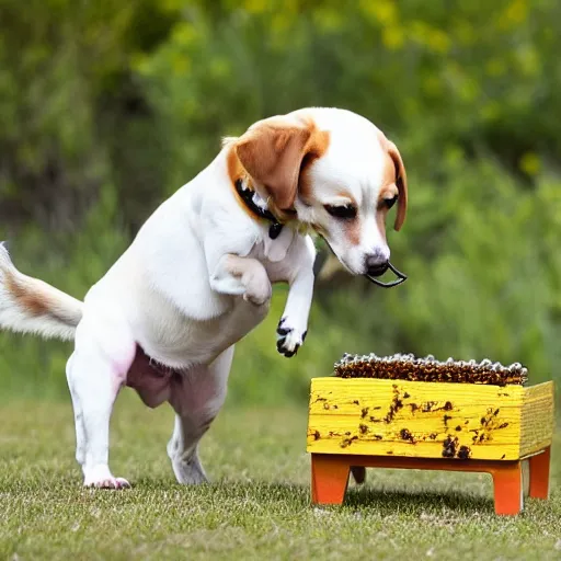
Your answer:
[[[519,385],[528,381],[528,369],[519,363],[503,366],[484,358],[477,360],[437,360],[433,355],[417,358],[412,354],[391,356],[352,355],[345,353],[334,365],[340,378],[378,378],[383,380],[439,381],[485,383],[491,386]]]

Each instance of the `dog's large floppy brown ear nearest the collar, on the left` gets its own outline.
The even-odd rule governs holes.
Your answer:
[[[300,167],[311,149],[312,134],[312,126],[273,117],[253,125],[236,142],[241,164],[280,210],[289,210],[294,205]]]

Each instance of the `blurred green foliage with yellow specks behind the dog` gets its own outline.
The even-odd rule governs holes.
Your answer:
[[[16,264],[83,296],[221,136],[301,106],[393,139],[410,275],[319,284],[297,358],[266,322],[232,399],[305,397],[343,352],[526,363],[561,352],[561,3],[556,0],[0,0],[0,220]],[[2,334],[0,383],[64,393],[68,345]]]

